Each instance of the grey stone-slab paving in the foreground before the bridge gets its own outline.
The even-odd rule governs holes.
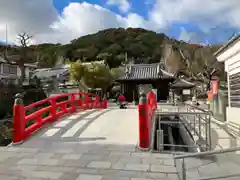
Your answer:
[[[58,143],[45,150],[9,147],[0,153],[4,180],[177,179],[171,155],[140,153],[130,145]]]

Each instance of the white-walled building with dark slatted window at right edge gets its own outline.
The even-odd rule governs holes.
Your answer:
[[[240,111],[240,35],[236,35],[214,54],[223,62],[228,79],[228,107],[226,119],[240,124],[237,116]]]

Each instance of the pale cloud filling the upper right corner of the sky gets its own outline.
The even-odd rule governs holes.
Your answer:
[[[170,26],[181,21],[196,23],[202,30],[208,32],[212,27],[229,23],[240,28],[239,0],[155,0],[155,5],[149,13],[150,19],[161,27]]]

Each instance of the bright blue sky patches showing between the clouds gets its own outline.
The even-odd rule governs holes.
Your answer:
[[[107,8],[111,10],[112,12],[119,14],[123,17],[126,17],[128,13],[122,12],[118,6],[109,6],[106,4],[107,0],[54,0],[54,6],[58,10],[58,12],[61,14],[63,9],[67,7],[72,2],[88,2],[90,4],[98,4],[104,8]],[[170,0],[169,0],[170,1]],[[131,8],[129,9],[130,13],[136,13],[140,16],[142,16],[144,19],[149,18],[149,12],[154,7],[154,0],[131,0],[129,3],[131,4]],[[235,29],[231,27],[228,23],[223,23],[218,26],[218,29],[211,30],[208,32],[208,34],[203,33],[201,30],[201,26],[197,25],[197,23],[193,22],[186,22],[184,20],[178,20],[173,21],[170,23],[170,25],[167,27],[167,29],[162,30],[164,33],[166,33],[170,37],[174,37],[178,39],[181,36],[182,29],[185,29],[186,32],[189,32],[191,34],[191,37],[189,37],[189,41],[191,41],[191,38],[194,39],[192,41],[209,41],[211,43],[218,43],[222,41],[226,41],[233,33],[238,32],[238,29]],[[185,38],[184,38],[185,40]]]

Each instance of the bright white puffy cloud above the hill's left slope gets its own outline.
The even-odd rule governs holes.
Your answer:
[[[52,28],[56,32],[61,30],[59,37],[62,37],[64,41],[68,41],[106,28],[148,28],[147,24],[146,20],[136,14],[122,17],[98,5],[71,3],[64,9],[59,20],[53,23]]]

